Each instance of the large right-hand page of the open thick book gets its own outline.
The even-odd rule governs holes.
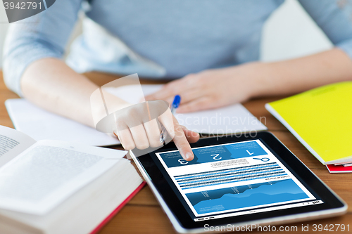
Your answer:
[[[127,151],[39,141],[0,169],[0,208],[43,215],[108,171]]]

